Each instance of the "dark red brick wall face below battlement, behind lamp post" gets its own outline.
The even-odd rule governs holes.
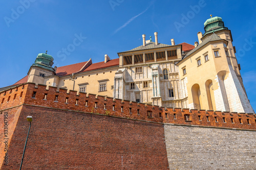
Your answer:
[[[162,124],[23,106],[9,146],[18,169],[33,122],[23,169],[168,169]]]

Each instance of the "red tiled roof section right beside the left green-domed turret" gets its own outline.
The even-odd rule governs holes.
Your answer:
[[[72,73],[75,73],[75,72],[79,71],[84,66],[84,64],[86,64],[86,63],[87,63],[87,61],[84,61],[84,62],[81,62],[81,63],[76,63],[76,64],[57,67],[56,75],[57,76],[71,75]]]

